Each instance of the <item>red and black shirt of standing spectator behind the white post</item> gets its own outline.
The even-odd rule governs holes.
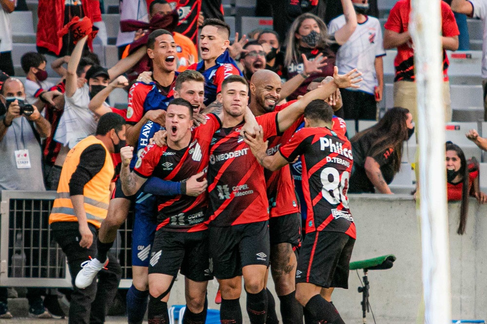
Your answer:
[[[434,0],[433,0],[434,1]],[[445,37],[460,35],[455,17],[450,6],[444,1],[441,3],[441,31]],[[404,33],[409,30],[409,15],[411,11],[411,0],[399,0],[391,9],[389,18],[384,28],[395,33]],[[447,52],[443,50],[443,80],[448,81],[448,60]],[[414,81],[414,49],[412,40],[397,47],[397,55],[394,59],[395,78],[394,81]]]

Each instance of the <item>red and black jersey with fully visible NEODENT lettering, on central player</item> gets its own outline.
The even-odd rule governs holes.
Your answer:
[[[256,117],[264,140],[277,135],[277,112]],[[211,139],[208,165],[210,225],[225,227],[269,219],[262,166],[240,135],[242,124],[221,128]]]

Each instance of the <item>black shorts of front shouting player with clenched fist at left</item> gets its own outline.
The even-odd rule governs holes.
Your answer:
[[[149,273],[175,277],[180,269],[181,274],[193,281],[213,279],[209,270],[208,231],[155,233]]]

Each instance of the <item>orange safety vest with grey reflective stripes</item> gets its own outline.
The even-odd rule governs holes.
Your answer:
[[[75,145],[66,156],[62,166],[61,177],[57,187],[56,199],[49,216],[49,224],[54,222],[77,222],[75,210],[69,195],[69,181],[79,164],[79,158],[83,151],[90,145],[102,144],[96,137],[88,136]],[[114,170],[110,152],[105,148],[105,163],[102,169],[92,180],[84,186],[84,207],[88,223],[100,228],[103,219],[107,218],[108,204],[110,202],[110,182],[112,181]]]

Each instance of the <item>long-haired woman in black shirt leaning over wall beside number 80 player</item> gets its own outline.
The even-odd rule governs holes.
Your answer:
[[[401,167],[403,143],[413,132],[409,110],[396,107],[377,124],[357,133],[350,140],[354,166],[348,192],[392,194],[389,183]]]

